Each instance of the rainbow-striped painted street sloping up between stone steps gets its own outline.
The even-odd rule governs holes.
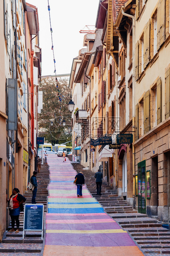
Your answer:
[[[77,197],[71,162],[48,156],[50,185],[44,256],[143,255],[128,233],[109,217],[86,186]]]

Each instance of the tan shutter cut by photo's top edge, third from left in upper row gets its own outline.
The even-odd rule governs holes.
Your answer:
[[[165,41],[165,0],[160,0],[158,2],[157,11],[157,31],[158,31],[158,41],[157,41],[157,51],[160,46]]]

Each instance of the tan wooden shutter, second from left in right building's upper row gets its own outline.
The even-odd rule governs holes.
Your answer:
[[[146,23],[146,27],[144,29],[144,69],[149,63],[150,58],[150,19]]]

